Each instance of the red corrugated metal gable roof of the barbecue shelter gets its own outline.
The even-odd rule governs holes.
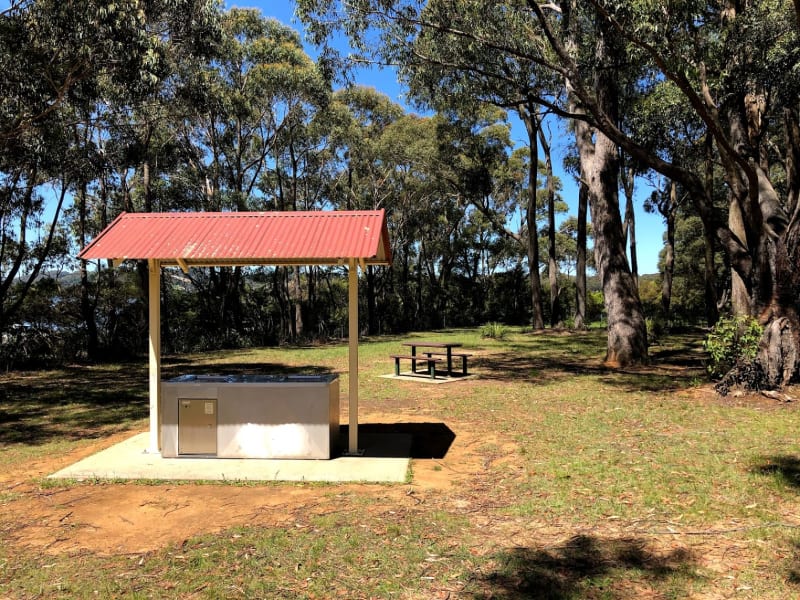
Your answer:
[[[377,211],[123,213],[78,258],[147,259],[182,266],[389,264]]]

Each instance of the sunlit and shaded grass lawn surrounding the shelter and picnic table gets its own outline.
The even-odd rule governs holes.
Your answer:
[[[800,413],[699,386],[697,335],[666,336],[650,367],[622,371],[602,366],[596,330],[417,337],[461,342],[479,377],[383,379],[403,340],[368,339],[362,409],[444,423],[471,444],[463,465],[415,460],[410,484],[380,492],[306,486],[314,511],[288,507],[271,525],[243,519],[147,553],[0,544],[0,597],[800,597]],[[171,357],[165,375],[346,367],[346,346],[327,345]],[[0,460],[20,477],[87,436],[145,424],[143,365],[10,373],[0,385]],[[456,482],[417,489],[426,469]],[[0,506],[46,489],[28,477],[0,481]],[[14,527],[0,516],[0,532]]]

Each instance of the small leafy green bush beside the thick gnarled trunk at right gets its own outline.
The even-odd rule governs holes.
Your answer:
[[[752,363],[763,333],[753,317],[721,317],[703,343],[711,377],[722,377],[736,365]]]

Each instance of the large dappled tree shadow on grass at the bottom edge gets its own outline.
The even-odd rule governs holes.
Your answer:
[[[496,557],[494,573],[478,580],[475,598],[577,600],[632,598],[642,587],[669,587],[668,597],[683,597],[694,573],[692,554],[679,548],[657,554],[635,538],[580,535],[547,548],[514,548]],[[631,581],[637,582],[635,587]],[[637,593],[638,592],[638,593]]]

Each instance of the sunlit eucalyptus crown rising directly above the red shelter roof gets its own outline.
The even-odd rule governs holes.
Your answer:
[[[296,192],[275,166],[290,136],[279,136],[307,120],[310,108],[326,101],[328,87],[293,29],[252,9],[224,13],[222,27],[211,61],[180,65],[181,176],[194,189],[195,208],[248,210],[263,206],[259,185],[273,168],[276,188],[288,188],[276,208],[291,209]]]

